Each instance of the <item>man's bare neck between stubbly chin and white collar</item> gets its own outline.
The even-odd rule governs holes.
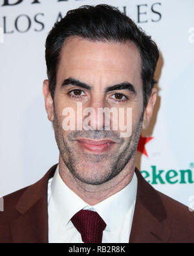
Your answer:
[[[83,201],[89,205],[95,205],[121,191],[131,182],[135,171],[135,160],[136,154],[131,157],[125,168],[116,177],[100,185],[90,185],[78,180],[69,172],[61,156],[59,156],[59,174],[63,182]]]

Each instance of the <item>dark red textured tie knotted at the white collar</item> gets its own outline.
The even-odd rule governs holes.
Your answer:
[[[102,242],[102,233],[106,224],[98,213],[81,210],[72,216],[71,221],[80,232],[83,242]]]

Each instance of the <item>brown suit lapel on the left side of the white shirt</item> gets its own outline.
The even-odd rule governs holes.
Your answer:
[[[19,216],[10,223],[12,242],[48,242],[48,180],[56,170],[54,165],[47,174],[23,192],[17,202]]]

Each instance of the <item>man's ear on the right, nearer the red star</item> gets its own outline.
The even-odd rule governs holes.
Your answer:
[[[142,129],[147,129],[149,125],[149,121],[151,120],[151,117],[153,115],[153,109],[156,102],[156,95],[157,95],[157,89],[154,87],[151,90],[151,95],[149,97],[149,100],[147,101],[147,105],[144,110],[144,119],[143,119]]]

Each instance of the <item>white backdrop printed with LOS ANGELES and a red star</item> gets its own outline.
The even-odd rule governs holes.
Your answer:
[[[158,99],[136,165],[155,189],[194,209],[193,0],[0,0],[0,195],[58,163],[42,95],[45,39],[68,10],[100,3],[125,12],[160,49]]]

